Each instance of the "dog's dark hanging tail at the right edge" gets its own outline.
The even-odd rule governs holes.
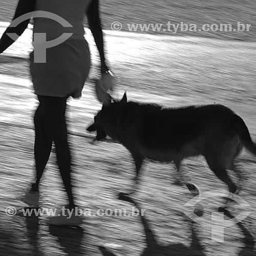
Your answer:
[[[244,120],[238,116],[234,116],[233,122],[234,130],[238,133],[242,144],[250,151],[254,156],[256,156],[256,144],[251,140],[249,130],[244,122]]]

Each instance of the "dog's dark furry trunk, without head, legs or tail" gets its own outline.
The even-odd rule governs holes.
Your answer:
[[[158,161],[204,154],[208,143],[236,136],[234,114],[223,105],[163,109],[127,102],[116,120],[119,140],[132,152]]]

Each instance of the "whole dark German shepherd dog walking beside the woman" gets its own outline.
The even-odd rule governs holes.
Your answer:
[[[243,119],[224,105],[192,105],[164,109],[161,105],[120,101],[103,104],[87,130],[97,131],[96,140],[110,136],[132,154],[136,166],[136,185],[144,159],[173,161],[179,171],[181,161],[202,155],[210,169],[236,193],[237,187],[226,169],[234,169],[233,161],[243,146],[256,156]],[[198,188],[186,184],[191,193]]]

